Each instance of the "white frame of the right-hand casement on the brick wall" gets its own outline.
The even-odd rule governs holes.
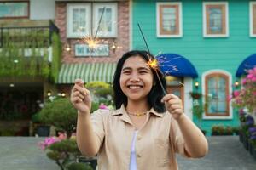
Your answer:
[[[99,20],[101,18],[101,14],[97,13],[98,8],[112,8],[113,11],[113,20],[111,22],[112,31],[104,32],[103,34],[99,31],[97,33],[97,37],[117,37],[117,3],[94,3],[93,4],[93,26],[94,26],[94,34],[96,33],[96,28],[99,24]]]

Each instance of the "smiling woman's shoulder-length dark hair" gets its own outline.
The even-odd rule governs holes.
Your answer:
[[[140,56],[143,59],[145,59],[145,61],[147,62],[150,59],[154,59],[153,55],[149,54],[147,51],[139,51],[139,50],[129,51],[119,59],[119,62],[117,64],[117,67],[113,76],[113,93],[114,93],[114,104],[116,109],[119,109],[122,104],[124,104],[125,106],[127,105],[127,97],[123,93],[120,87],[119,81],[120,81],[121,71],[125,63],[125,60],[135,56]],[[156,74],[157,73],[159,74],[160,81],[162,82],[164,88],[166,88],[166,79],[159,70],[155,70],[151,67],[150,69],[153,72],[155,85],[151,88],[151,91],[148,94],[148,104],[150,105],[150,107],[154,108],[154,111],[158,111],[161,113],[166,111],[165,104],[161,102],[161,99],[164,97],[165,94],[160,86],[160,82]]]

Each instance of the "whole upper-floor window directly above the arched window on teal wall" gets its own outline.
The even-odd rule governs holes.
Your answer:
[[[228,37],[228,3],[203,3],[204,37]]]

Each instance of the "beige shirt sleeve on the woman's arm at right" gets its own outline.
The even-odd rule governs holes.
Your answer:
[[[174,118],[171,118],[171,131],[170,136],[172,137],[172,145],[176,153],[181,154],[185,157],[190,157],[188,151],[185,148],[185,142],[183,139],[183,134],[181,133],[180,128],[178,127],[177,121]]]

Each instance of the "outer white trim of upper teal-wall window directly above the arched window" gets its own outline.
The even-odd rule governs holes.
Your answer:
[[[207,34],[207,16],[206,16],[206,6],[207,5],[224,5],[226,12],[226,34]],[[203,37],[229,37],[230,36],[230,25],[229,25],[229,3],[228,2],[203,2]]]

